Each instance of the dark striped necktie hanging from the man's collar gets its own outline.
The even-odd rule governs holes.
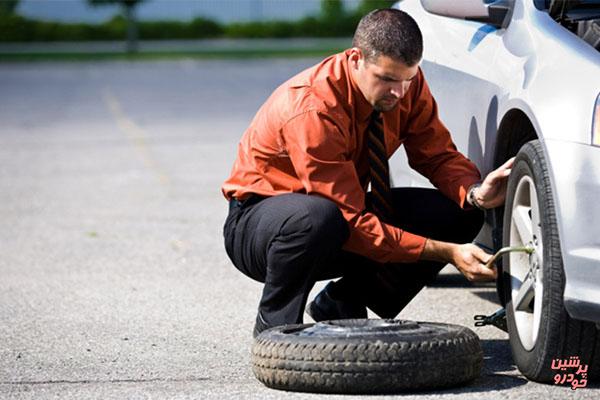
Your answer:
[[[388,166],[383,121],[381,114],[374,111],[369,123],[367,138],[369,149],[369,171],[371,176],[371,206],[375,214],[386,222],[394,216],[392,189],[390,188],[390,169]]]

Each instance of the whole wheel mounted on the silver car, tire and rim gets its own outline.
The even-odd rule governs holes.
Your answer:
[[[552,360],[579,356],[588,380],[600,373],[600,336],[594,323],[572,319],[563,304],[565,273],[550,176],[541,143],[525,144],[508,180],[504,246],[530,245],[531,255],[504,259],[509,341],[513,359],[527,378],[550,382]]]

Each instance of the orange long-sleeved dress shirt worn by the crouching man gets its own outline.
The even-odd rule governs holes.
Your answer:
[[[382,263],[417,261],[426,238],[365,211],[372,112],[352,80],[348,50],[299,73],[279,86],[252,120],[223,194],[238,200],[252,193],[325,197],[348,221],[345,250]],[[480,174],[439,120],[420,68],[399,105],[382,117],[388,157],[404,145],[410,166],[464,207],[467,190]]]

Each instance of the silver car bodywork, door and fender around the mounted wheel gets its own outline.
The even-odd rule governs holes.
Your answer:
[[[434,15],[419,0],[395,7],[421,27],[422,67],[440,118],[483,175],[496,166],[503,119],[519,110],[531,122],[544,146],[558,213],[565,305],[576,318],[600,321],[600,148],[591,146],[600,53],[531,0],[514,1],[506,29]],[[407,171],[405,155],[390,165],[396,185],[430,186],[397,172]],[[490,231],[484,228],[479,239],[491,243]]]

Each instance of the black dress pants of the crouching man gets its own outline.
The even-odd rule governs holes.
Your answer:
[[[394,188],[392,194],[393,223],[408,232],[469,243],[481,229],[481,211],[462,210],[437,190]],[[333,287],[336,297],[394,318],[445,266],[430,261],[381,264],[342,250],[347,222],[333,202],[314,195],[232,200],[223,233],[236,268],[265,284],[258,309],[268,326],[301,323],[315,282],[335,277],[341,277]]]

